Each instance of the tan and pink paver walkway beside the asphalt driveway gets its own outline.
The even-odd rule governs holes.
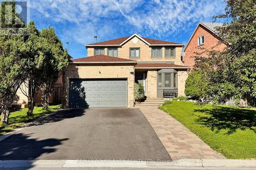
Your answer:
[[[136,108],[145,115],[173,160],[225,158],[157,106]]]

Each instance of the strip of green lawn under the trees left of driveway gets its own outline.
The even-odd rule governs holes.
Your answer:
[[[34,112],[33,112],[34,115],[29,116],[29,117],[27,116],[27,111],[28,111],[27,108],[26,109],[18,109],[17,111],[11,112],[11,114],[9,116],[9,125],[7,125],[7,126],[0,125],[0,135],[10,132],[11,130],[13,130],[19,126],[27,124],[40,116],[49,114],[53,111],[57,111],[57,110],[59,110],[59,107],[60,107],[60,105],[50,106],[49,111],[42,110],[42,107],[35,107]],[[1,117],[0,117],[0,119],[1,119]]]

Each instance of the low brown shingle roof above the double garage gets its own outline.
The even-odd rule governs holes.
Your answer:
[[[137,61],[105,55],[96,55],[73,59],[71,63],[137,63]]]

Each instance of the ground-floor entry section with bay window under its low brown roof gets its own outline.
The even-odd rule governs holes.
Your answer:
[[[176,98],[185,95],[189,68],[169,63],[138,63],[135,83],[143,85],[146,98]]]

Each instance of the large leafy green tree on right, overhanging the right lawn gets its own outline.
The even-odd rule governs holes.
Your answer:
[[[229,23],[218,27],[220,43],[228,44],[222,51],[197,54],[196,69],[202,72],[207,84],[201,98],[215,104],[229,98],[237,104],[245,94],[256,96],[256,3],[253,0],[226,0],[225,13],[215,20],[226,18]]]

